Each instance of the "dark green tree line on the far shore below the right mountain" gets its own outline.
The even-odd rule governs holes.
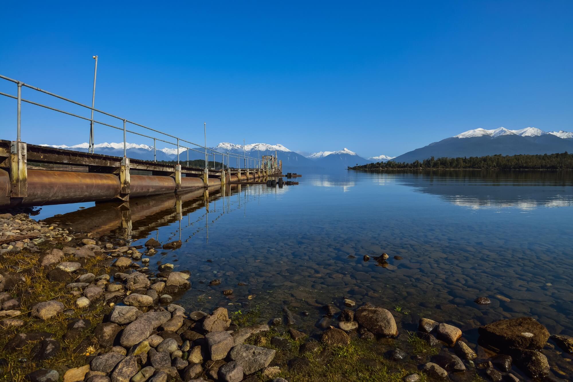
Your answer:
[[[564,170],[573,169],[573,154],[543,155],[488,155],[485,157],[434,158],[423,161],[376,162],[362,166],[348,167],[352,170],[383,169],[487,169],[487,170]]]

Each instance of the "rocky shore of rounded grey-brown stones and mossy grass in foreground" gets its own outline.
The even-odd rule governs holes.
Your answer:
[[[308,313],[287,306],[273,318],[177,304],[191,272],[151,259],[178,241],[133,246],[1,214],[0,244],[0,380],[559,380],[543,354],[550,333],[529,317],[484,325],[472,343],[448,323],[407,331],[387,309],[342,299],[310,335],[296,317]],[[571,337],[551,341],[573,352]]]

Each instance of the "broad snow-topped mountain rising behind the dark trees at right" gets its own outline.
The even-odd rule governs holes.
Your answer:
[[[552,154],[573,152],[573,133],[544,132],[536,128],[474,129],[412,150],[393,159],[422,161],[430,157],[481,157],[486,155]]]

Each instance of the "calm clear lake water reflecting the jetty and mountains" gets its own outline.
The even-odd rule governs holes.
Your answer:
[[[48,220],[131,233],[135,244],[180,238],[182,247],[156,254],[151,268],[162,261],[191,271],[193,286],[179,300],[191,309],[259,307],[270,319],[287,305],[312,331],[320,307],[342,309],[346,296],[395,311],[402,329],[429,317],[474,342],[478,326],[520,316],[573,335],[571,172],[344,170],[296,180],[211,189],[208,212],[195,192],[180,208],[169,195],[132,200],[123,212],[111,203],[48,206],[38,218],[69,211]],[[386,264],[363,260],[383,252]],[[214,278],[221,285],[207,286]],[[475,304],[481,296],[492,303]]]

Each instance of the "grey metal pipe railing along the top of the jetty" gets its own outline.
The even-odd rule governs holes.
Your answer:
[[[241,155],[241,154],[229,153],[229,152],[222,153],[222,152],[219,152],[219,151],[217,151],[217,150],[208,148],[206,145],[205,145],[205,146],[199,145],[199,144],[196,144],[196,143],[194,143],[194,142],[187,141],[187,140],[185,140],[185,139],[183,139],[183,138],[176,137],[176,136],[173,136],[173,135],[168,134],[168,133],[164,133],[164,132],[162,132],[162,131],[160,131],[160,130],[152,129],[152,128],[148,127],[148,126],[145,126],[145,125],[142,125],[142,124],[138,124],[138,123],[133,122],[133,121],[129,121],[129,120],[127,120],[127,118],[118,117],[118,116],[115,116],[114,114],[111,114],[111,113],[108,113],[108,112],[104,112],[103,110],[95,109],[95,108],[93,108],[93,107],[91,107],[91,106],[84,105],[84,104],[81,104],[80,102],[73,101],[73,100],[70,100],[69,98],[62,97],[61,95],[54,94],[54,93],[51,93],[50,91],[46,91],[46,90],[40,89],[39,87],[29,85],[28,83],[24,83],[24,82],[22,82],[22,81],[18,81],[18,80],[13,79],[13,78],[5,77],[4,75],[0,75],[0,78],[5,79],[6,81],[14,82],[14,83],[17,85],[17,95],[16,95],[16,96],[11,95],[11,94],[3,93],[2,91],[0,91],[0,95],[4,95],[5,97],[9,97],[9,98],[13,98],[14,100],[17,100],[17,134],[16,134],[16,136],[17,136],[17,141],[18,141],[18,142],[21,142],[21,107],[22,107],[21,105],[22,105],[22,102],[26,102],[26,103],[31,104],[31,105],[41,106],[42,108],[46,108],[46,109],[49,109],[49,110],[54,110],[55,112],[60,112],[60,113],[63,113],[63,114],[67,114],[68,116],[72,116],[72,117],[76,117],[76,118],[81,118],[82,120],[89,121],[91,125],[93,125],[93,124],[99,124],[99,125],[102,125],[102,126],[108,126],[109,128],[113,128],[113,129],[117,129],[117,130],[123,130],[123,156],[124,156],[124,157],[127,157],[127,142],[126,142],[126,139],[125,139],[125,135],[126,135],[126,133],[130,133],[130,134],[135,134],[135,135],[140,136],[140,137],[150,138],[150,139],[153,140],[154,162],[157,161],[156,141],[160,141],[160,142],[164,142],[164,143],[166,143],[166,144],[170,144],[170,145],[176,146],[176,150],[177,150],[177,164],[179,164],[179,155],[180,155],[181,149],[185,149],[186,152],[187,152],[187,166],[189,166],[189,151],[194,151],[194,152],[198,152],[198,153],[202,153],[202,154],[205,153],[205,171],[207,171],[208,168],[209,168],[209,156],[210,156],[210,155],[213,155],[213,169],[215,169],[215,154],[220,154],[220,155],[221,155],[221,158],[222,158],[222,169],[225,168],[225,157],[226,157],[226,160],[227,160],[227,161],[226,161],[226,162],[227,162],[227,168],[231,168],[231,167],[230,167],[230,157],[231,157],[231,156],[232,156],[232,157],[237,157],[237,168],[241,168],[241,167],[240,167],[240,159],[241,159],[241,158],[243,158],[243,160],[244,160],[245,163],[252,163],[253,166],[255,166],[255,165],[257,166],[257,167],[252,167],[252,168],[261,168],[261,169],[262,169],[262,168],[266,168],[265,162],[262,161],[262,160],[260,160],[260,159],[258,159],[258,158],[253,158],[253,157],[244,156],[244,155]],[[60,110],[60,109],[52,108],[51,106],[39,104],[38,102],[34,102],[34,101],[30,101],[30,100],[25,100],[25,99],[22,98],[22,86],[28,87],[29,89],[33,89],[33,90],[39,91],[40,93],[44,93],[44,94],[51,95],[52,97],[59,98],[60,100],[63,100],[63,101],[66,101],[66,102],[70,102],[71,104],[74,104],[74,105],[77,105],[77,106],[81,106],[81,107],[83,107],[83,108],[86,108],[86,109],[88,109],[88,110],[91,110],[91,118],[79,116],[78,114],[66,112],[65,110]],[[114,126],[114,125],[107,124],[107,123],[102,122],[102,121],[96,121],[96,120],[93,119],[93,112],[101,113],[101,114],[103,114],[104,116],[116,118],[117,120],[120,120],[121,122],[123,122],[123,127]],[[162,134],[162,136],[165,136],[165,137],[173,138],[176,142],[167,141],[168,138],[163,138],[163,137],[162,137],[162,138],[163,138],[163,139],[162,139],[162,138],[158,138],[158,137],[152,137],[152,136],[149,136],[149,135],[147,135],[147,134],[142,134],[142,133],[139,133],[139,132],[135,132],[135,131],[132,131],[132,130],[128,130],[128,129],[127,129],[127,124],[131,124],[131,125],[134,125],[134,126],[138,126],[139,128],[143,128],[143,129],[150,130],[151,132],[155,132],[155,133]],[[204,128],[205,128],[205,140],[206,140],[206,124],[204,124],[203,126],[204,126]],[[90,135],[90,142],[89,142],[89,146],[90,146],[90,147],[88,148],[88,152],[93,154],[93,153],[94,153],[94,148],[95,148],[95,141],[93,140],[93,129],[92,129],[91,127],[90,127],[90,133],[89,133],[89,135]],[[187,144],[189,144],[189,145],[193,145],[193,146],[195,146],[195,147],[197,147],[197,148],[201,148],[201,149],[203,149],[203,150],[198,150],[198,149],[194,149],[194,148],[191,148],[191,147],[189,147],[189,146],[186,146],[186,145],[181,145],[180,142],[185,142],[185,143],[187,143]],[[246,167],[246,166],[244,166],[244,167]]]

